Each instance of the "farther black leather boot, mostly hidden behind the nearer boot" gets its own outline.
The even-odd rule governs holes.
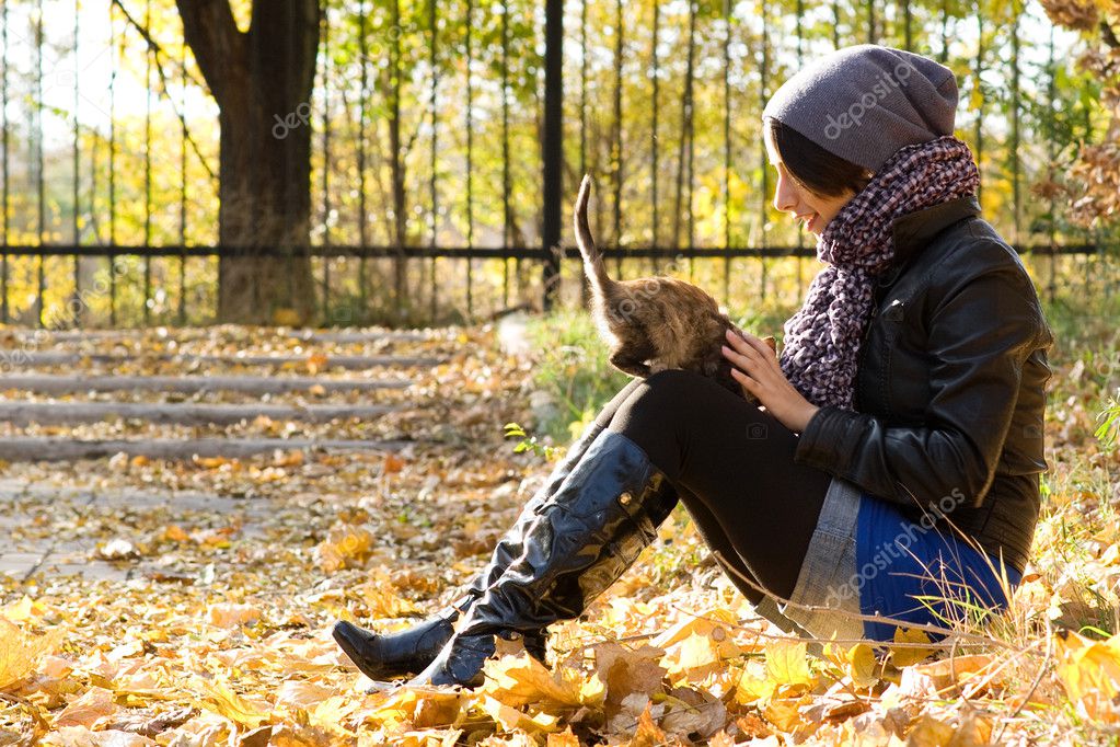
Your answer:
[[[494,548],[489,562],[474,578],[460,599],[422,623],[396,633],[377,634],[346,620],[338,622],[332,632],[338,647],[363,674],[373,680],[391,680],[416,674],[428,666],[455,633],[455,622],[459,615],[473,601],[483,596],[489,585],[502,576],[511,561],[521,555],[523,551],[522,538],[525,530],[536,521],[538,511],[560,488],[564,478],[582,458],[588,446],[601,431],[603,428],[592,422],[580,438],[568,448],[563,460],[556,466],[545,484],[522,508],[513,527],[502,536]],[[675,504],[675,499],[673,503]],[[660,524],[670,511],[672,511],[672,505],[664,511],[664,515],[657,519],[656,523]],[[543,628],[505,631],[501,635],[506,637],[524,636],[524,646],[530,655],[541,662],[544,661],[547,636]]]

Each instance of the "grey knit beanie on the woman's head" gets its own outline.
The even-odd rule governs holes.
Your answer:
[[[777,90],[774,118],[840,158],[878,171],[899,148],[953,133],[952,71],[902,49],[838,49]]]

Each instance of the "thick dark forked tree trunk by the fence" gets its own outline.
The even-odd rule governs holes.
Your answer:
[[[311,87],[317,0],[255,0],[248,31],[228,0],[176,0],[184,36],[218,105],[218,318],[304,324],[309,258]],[[260,256],[260,250],[283,258]]]

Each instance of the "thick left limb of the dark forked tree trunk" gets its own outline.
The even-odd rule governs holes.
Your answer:
[[[175,0],[175,4],[184,38],[221,108],[231,95],[231,73],[248,67],[245,35],[237,29],[228,0]]]

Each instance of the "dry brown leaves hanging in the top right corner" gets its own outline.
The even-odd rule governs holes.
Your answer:
[[[1043,0],[1057,26],[1080,31],[1086,49],[1080,66],[1101,84],[1100,104],[1108,118],[1096,143],[1084,143],[1067,188],[1072,215],[1083,224],[1120,221],[1120,1]]]

